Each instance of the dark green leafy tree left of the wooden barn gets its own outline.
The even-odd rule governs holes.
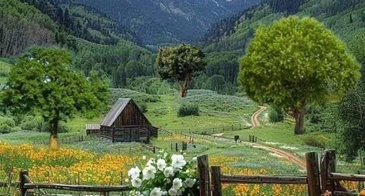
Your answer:
[[[14,113],[41,114],[57,147],[58,123],[77,113],[92,116],[105,109],[109,92],[95,74],[86,79],[70,69],[65,50],[33,48],[18,60],[1,91],[1,101]]]

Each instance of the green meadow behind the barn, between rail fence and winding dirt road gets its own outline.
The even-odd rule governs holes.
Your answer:
[[[183,101],[177,95],[161,95],[159,102],[147,103],[148,111],[145,114],[157,127],[186,131],[235,123],[248,124],[251,123],[251,114],[257,109],[257,105],[246,98],[218,94],[202,96],[197,93],[188,94],[185,99],[186,102],[199,103],[199,116],[178,117],[178,107]]]

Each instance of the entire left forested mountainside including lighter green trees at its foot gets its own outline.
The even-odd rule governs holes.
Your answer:
[[[16,57],[32,46],[72,51],[74,69],[122,87],[138,76],[154,76],[155,55],[138,38],[93,8],[49,0],[0,0],[0,57]]]

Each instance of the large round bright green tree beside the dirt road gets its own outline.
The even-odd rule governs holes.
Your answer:
[[[260,27],[240,60],[239,80],[260,104],[292,111],[303,134],[308,104],[343,94],[357,83],[359,64],[345,45],[312,18],[284,18]]]

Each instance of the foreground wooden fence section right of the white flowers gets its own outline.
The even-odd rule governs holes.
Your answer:
[[[336,173],[336,153],[324,151],[321,160],[317,153],[306,153],[306,176],[230,176],[220,172],[220,166],[209,167],[208,155],[198,158],[200,196],[221,196],[222,184],[303,184],[309,196],[321,196],[326,191],[334,196],[359,195],[350,193],[340,181],[365,181],[365,175]],[[362,195],[361,195],[362,196]]]

